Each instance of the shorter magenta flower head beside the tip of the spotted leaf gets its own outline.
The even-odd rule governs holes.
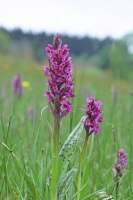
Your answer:
[[[86,119],[84,121],[84,128],[88,135],[92,133],[98,134],[101,130],[99,123],[103,121],[101,114],[103,110],[100,108],[102,105],[101,101],[96,101],[94,97],[86,98],[87,106],[86,106]]]

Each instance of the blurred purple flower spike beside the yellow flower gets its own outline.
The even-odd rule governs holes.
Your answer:
[[[23,85],[22,85],[22,75],[18,74],[13,79],[13,89],[14,89],[14,95],[15,96],[22,96],[23,95]]]

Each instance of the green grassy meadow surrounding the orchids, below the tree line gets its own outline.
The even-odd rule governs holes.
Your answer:
[[[103,71],[87,63],[80,66],[75,63],[76,58],[73,60],[74,112],[61,122],[60,148],[85,115],[81,108],[84,109],[86,105],[86,97],[94,96],[101,100],[104,111],[102,130],[98,135],[89,137],[83,162],[80,199],[107,199],[100,196],[100,191],[107,196],[112,195],[112,199],[133,199],[133,84],[115,78],[111,70]],[[0,55],[1,200],[50,199],[48,177],[53,150],[53,116],[47,107],[47,98],[43,96],[47,89],[44,65],[48,65],[47,60],[37,63]],[[23,81],[29,82],[29,86],[24,87],[22,97],[15,98],[12,81],[18,73],[22,74]],[[35,109],[33,119],[29,117],[30,107]],[[77,167],[84,138],[83,130],[70,168]],[[119,148],[128,154],[129,166],[120,180],[116,198],[113,168]],[[75,178],[64,199],[76,199],[76,183]],[[34,187],[38,191],[37,198],[34,196]]]

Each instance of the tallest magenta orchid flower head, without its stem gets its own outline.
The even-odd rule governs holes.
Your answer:
[[[45,76],[48,77],[48,90],[44,94],[49,101],[50,109],[62,119],[72,112],[72,104],[69,99],[74,98],[74,82],[72,81],[72,61],[69,57],[67,45],[61,46],[62,41],[57,34],[53,39],[53,45],[48,44],[46,55],[49,66],[44,66]]]

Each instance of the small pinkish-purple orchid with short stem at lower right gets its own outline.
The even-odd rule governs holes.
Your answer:
[[[124,149],[119,149],[117,151],[115,168],[114,168],[114,180],[116,182],[116,186],[115,186],[116,197],[118,195],[120,178],[125,173],[125,168],[128,167],[127,156],[128,154],[125,153]]]

